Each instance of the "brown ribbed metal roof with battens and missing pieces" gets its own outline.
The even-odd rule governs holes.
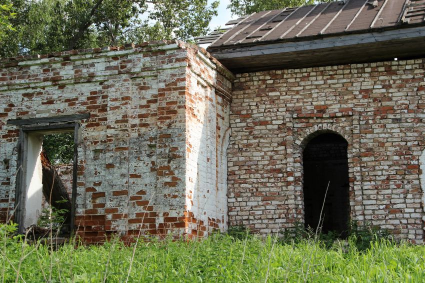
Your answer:
[[[340,0],[253,13],[198,38],[208,49],[425,24],[425,0]]]

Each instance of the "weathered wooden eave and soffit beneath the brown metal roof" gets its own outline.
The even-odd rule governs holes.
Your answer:
[[[277,68],[315,67],[425,57],[425,28],[378,29],[314,37],[310,40],[274,41],[255,45],[226,46],[208,50],[233,72]]]

